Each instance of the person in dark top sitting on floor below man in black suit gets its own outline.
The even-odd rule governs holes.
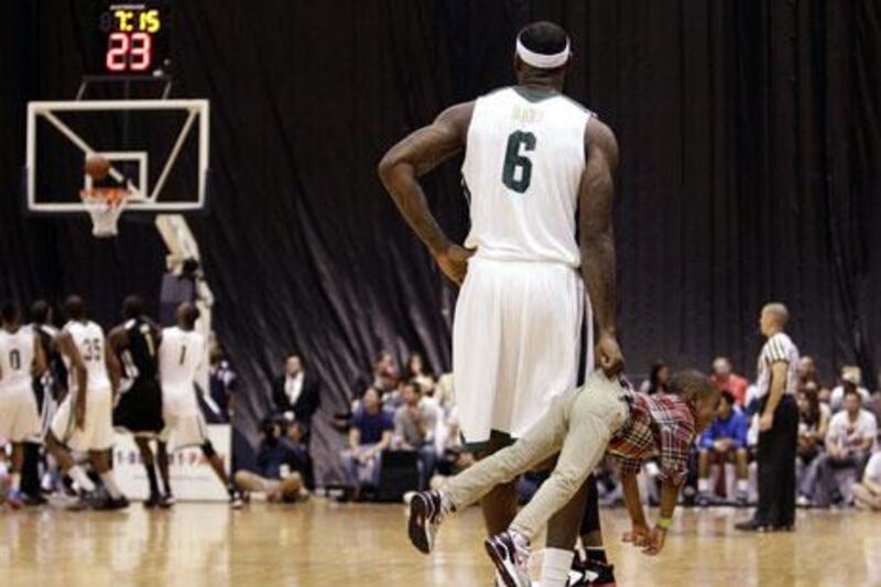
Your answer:
[[[308,497],[312,465],[303,428],[296,422],[271,418],[263,423],[257,455],[258,471],[236,471],[235,482],[248,493],[264,493],[268,501],[293,503]]]

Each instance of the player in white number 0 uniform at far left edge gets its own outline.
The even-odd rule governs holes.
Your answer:
[[[24,442],[40,434],[33,376],[45,371],[46,359],[33,329],[21,325],[21,313],[14,304],[4,303],[0,308],[0,438],[12,443],[10,487],[8,493],[0,488],[0,501],[6,499],[10,507],[19,509],[23,504]],[[6,475],[0,477],[7,480]]]

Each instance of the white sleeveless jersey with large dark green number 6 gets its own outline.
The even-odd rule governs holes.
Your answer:
[[[466,247],[500,261],[580,265],[576,210],[591,116],[562,94],[523,87],[477,100],[461,170]]]

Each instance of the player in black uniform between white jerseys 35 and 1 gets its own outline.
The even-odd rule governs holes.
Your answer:
[[[159,345],[162,331],[144,315],[143,301],[130,295],[122,303],[124,323],[107,337],[111,380],[120,383],[113,409],[113,426],[134,436],[150,480],[145,508],[160,504],[162,492],[156,478],[155,459],[150,442],[165,426],[162,420],[162,388],[159,384]]]

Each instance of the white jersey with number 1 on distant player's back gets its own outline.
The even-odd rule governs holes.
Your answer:
[[[159,372],[162,382],[162,411],[166,416],[191,416],[198,413],[196,371],[205,355],[205,337],[177,326],[162,330],[159,346]]]

